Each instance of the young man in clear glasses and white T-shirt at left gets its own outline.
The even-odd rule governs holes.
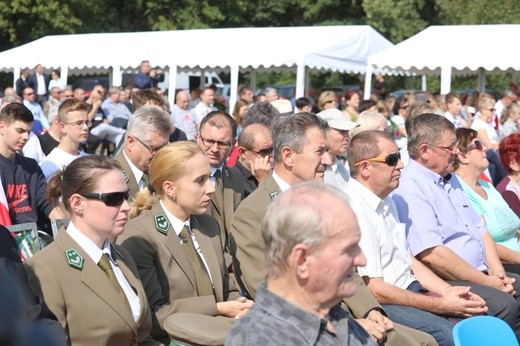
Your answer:
[[[47,181],[73,160],[87,155],[79,150],[80,144],[87,140],[92,125],[87,109],[87,104],[77,99],[65,100],[58,108],[60,143],[40,163]]]

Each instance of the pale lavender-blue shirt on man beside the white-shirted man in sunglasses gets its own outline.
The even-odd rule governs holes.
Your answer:
[[[444,179],[410,160],[392,199],[399,219],[406,224],[406,240],[414,256],[444,245],[472,267],[488,269],[482,239],[487,231],[485,223],[455,175]]]

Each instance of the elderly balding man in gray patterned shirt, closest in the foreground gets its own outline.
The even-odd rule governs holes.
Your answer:
[[[267,209],[262,237],[267,283],[226,345],[376,345],[338,305],[354,294],[356,266],[366,263],[342,192],[321,182],[284,192]]]

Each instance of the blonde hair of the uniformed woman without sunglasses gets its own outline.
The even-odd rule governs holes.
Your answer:
[[[196,154],[204,155],[195,142],[179,141],[161,148],[150,163],[150,188],[144,188],[135,196],[129,218],[139,216],[149,210],[158,198],[164,196],[165,181],[177,181],[189,171],[187,162]]]

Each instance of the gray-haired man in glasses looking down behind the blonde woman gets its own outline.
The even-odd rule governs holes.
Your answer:
[[[170,115],[157,106],[143,106],[130,117],[123,150],[114,157],[123,169],[130,200],[148,186],[150,161],[168,144],[172,129]]]

